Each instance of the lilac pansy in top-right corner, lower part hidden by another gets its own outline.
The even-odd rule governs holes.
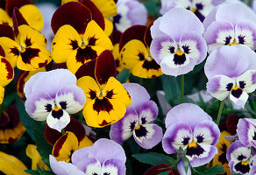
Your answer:
[[[209,52],[221,45],[256,48],[256,15],[246,4],[221,4],[210,12],[203,25]]]

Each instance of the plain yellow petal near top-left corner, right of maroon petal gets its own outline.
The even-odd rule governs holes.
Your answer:
[[[33,4],[26,4],[21,6],[19,11],[25,18],[28,25],[38,31],[42,31],[44,27],[44,19],[37,6]]]

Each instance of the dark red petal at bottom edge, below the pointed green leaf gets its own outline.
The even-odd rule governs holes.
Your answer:
[[[144,172],[143,175],[158,175],[160,172],[169,172],[168,175],[180,175],[178,171],[171,168],[170,165],[167,164],[154,165]]]

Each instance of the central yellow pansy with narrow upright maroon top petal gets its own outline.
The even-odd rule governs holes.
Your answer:
[[[115,78],[115,59],[112,53],[106,50],[100,54],[96,62],[93,60],[87,65],[84,70],[89,74],[77,81],[77,86],[82,88],[87,97],[82,112],[86,123],[92,127],[116,123],[131,104],[131,97]]]

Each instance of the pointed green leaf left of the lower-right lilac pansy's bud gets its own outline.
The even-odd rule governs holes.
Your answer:
[[[156,152],[133,154],[132,157],[139,160],[139,162],[149,165],[159,165],[162,163],[173,165],[173,162],[175,161],[174,158]]]

